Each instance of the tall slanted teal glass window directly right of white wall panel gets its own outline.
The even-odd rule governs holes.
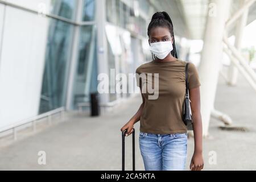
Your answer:
[[[51,19],[39,114],[65,105],[73,26]]]

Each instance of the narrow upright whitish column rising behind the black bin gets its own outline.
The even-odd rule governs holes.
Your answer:
[[[106,40],[106,1],[96,0],[96,26],[97,26],[97,64],[98,74],[108,74],[108,42]],[[99,95],[100,102],[109,101],[109,94]]]

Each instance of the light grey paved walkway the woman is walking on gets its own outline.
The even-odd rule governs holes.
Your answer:
[[[90,118],[88,114],[71,112],[65,114],[65,122],[32,134],[30,130],[18,135],[18,140],[0,140],[0,169],[34,170],[120,170],[121,126],[137,111],[141,97],[131,98],[101,117]],[[212,119],[210,135],[204,139],[205,170],[256,169],[256,96],[243,77],[238,86],[224,83],[220,77],[216,96],[216,109],[229,114],[234,125],[244,126],[249,132],[222,131],[222,123]],[[43,128],[43,126],[42,126]],[[138,147],[139,123],[135,125],[136,167],[143,170]],[[28,136],[30,135],[30,136]],[[131,137],[126,139],[127,169],[131,169]],[[46,165],[38,164],[38,152],[46,151]],[[209,164],[210,151],[216,152],[217,164]],[[193,139],[188,140],[189,166],[193,152]]]

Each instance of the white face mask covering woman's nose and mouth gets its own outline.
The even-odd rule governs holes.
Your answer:
[[[174,49],[171,41],[162,41],[150,43],[150,51],[154,53],[158,59],[164,59]]]

